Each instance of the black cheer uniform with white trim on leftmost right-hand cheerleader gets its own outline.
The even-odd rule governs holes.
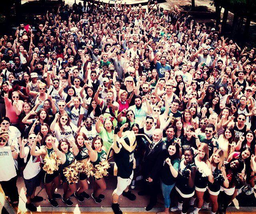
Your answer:
[[[182,158],[180,161],[180,169],[176,180],[176,190],[183,198],[191,198],[195,193],[195,187],[190,188],[188,185],[188,178],[182,175],[182,170],[186,167],[184,164],[185,159]],[[195,163],[190,164],[191,167],[196,168]]]

